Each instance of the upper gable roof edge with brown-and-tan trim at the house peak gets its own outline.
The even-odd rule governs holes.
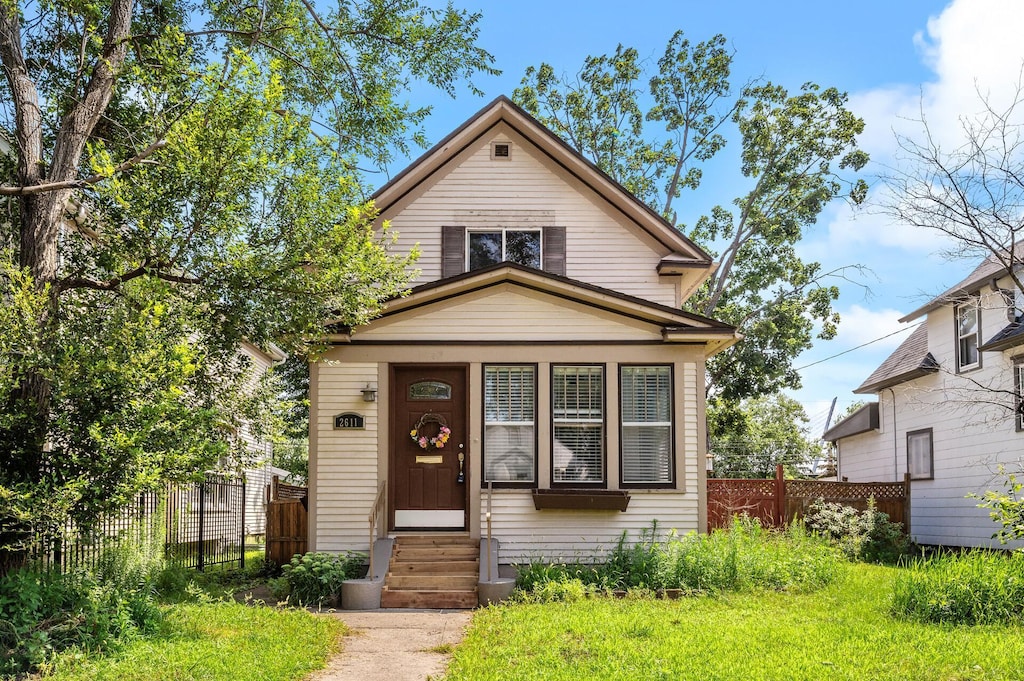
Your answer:
[[[666,268],[702,267],[711,272],[715,263],[703,249],[504,95],[478,111],[378,189],[372,197],[378,211],[387,211],[499,123],[505,123],[536,144],[554,163],[669,249],[672,254],[666,258]]]

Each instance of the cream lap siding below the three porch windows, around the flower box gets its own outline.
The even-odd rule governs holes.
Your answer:
[[[622,512],[538,511],[529,492],[496,492],[492,533],[500,542],[499,562],[594,560],[614,548],[624,529],[627,541],[634,543],[654,519],[663,537],[670,529],[679,534],[696,529],[696,495],[643,491],[630,495],[629,508]],[[486,526],[485,511],[481,526]]]

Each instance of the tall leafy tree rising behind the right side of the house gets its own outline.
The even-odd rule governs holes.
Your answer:
[[[867,162],[856,137],[863,121],[835,88],[799,92],[771,83],[730,84],[732,53],[722,36],[691,44],[677,32],[644,86],[636,49],[589,56],[574,78],[542,63],[530,67],[514,99],[598,167],[645,201],[720,265],[687,307],[736,325],[744,342],[713,357],[709,394],[736,401],[797,388],[793,359],[836,334],[828,284],[846,267],[824,271],[796,247],[824,207],[844,194],[866,196],[863,180],[847,181]],[[716,206],[687,228],[676,199],[696,188],[701,162],[734,135],[746,187],[732,208]]]

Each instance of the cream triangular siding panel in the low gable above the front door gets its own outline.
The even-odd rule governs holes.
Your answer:
[[[660,329],[503,284],[356,329],[359,340],[662,340]]]

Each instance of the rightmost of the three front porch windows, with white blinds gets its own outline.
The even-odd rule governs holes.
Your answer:
[[[672,484],[672,368],[622,367],[620,389],[623,484]]]

